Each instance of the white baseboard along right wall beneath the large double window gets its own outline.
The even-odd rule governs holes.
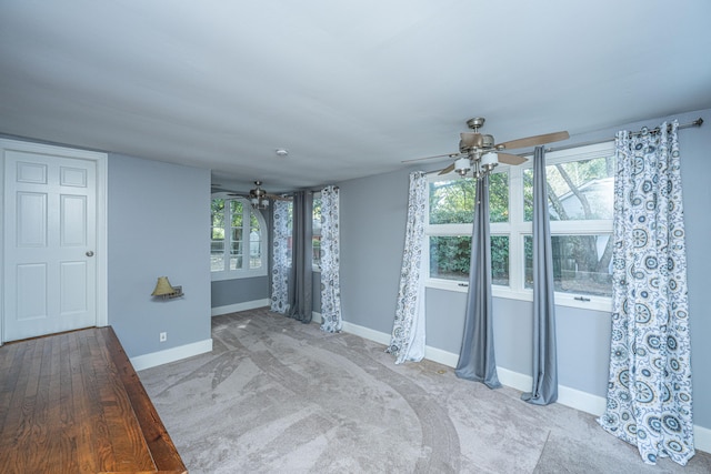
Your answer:
[[[314,315],[318,313],[314,313]],[[321,315],[319,314],[319,321],[320,317]],[[343,331],[380,344],[390,344],[390,334],[360,326],[358,324],[352,324],[348,321],[343,321]],[[430,347],[429,345],[424,347],[424,357],[449,367],[455,367],[457,362],[459,361],[459,354],[453,354],[437,347]],[[521,392],[530,392],[531,386],[533,385],[533,377],[531,375],[513,372],[504,367],[497,367],[497,374],[499,375],[499,381],[502,385]],[[571,409],[580,410],[581,412],[590,413],[594,416],[602,415],[607,406],[604,396],[593,395],[564,385],[558,386],[558,403],[570,406]],[[694,425],[693,437],[697,450],[711,453],[711,428]]]

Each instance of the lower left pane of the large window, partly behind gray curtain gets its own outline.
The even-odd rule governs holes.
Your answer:
[[[430,278],[469,280],[471,236],[430,236]],[[509,284],[509,236],[491,236],[492,283]]]

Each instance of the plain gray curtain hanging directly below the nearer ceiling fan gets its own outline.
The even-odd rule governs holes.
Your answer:
[[[484,175],[477,183],[464,335],[454,373],[460,379],[482,382],[490,389],[501,386],[497,375],[491,317],[491,242],[489,236],[488,175]]]

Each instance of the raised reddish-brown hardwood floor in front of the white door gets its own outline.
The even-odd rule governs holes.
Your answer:
[[[0,472],[186,473],[111,327],[0,347]]]

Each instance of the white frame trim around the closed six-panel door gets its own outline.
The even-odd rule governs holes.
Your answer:
[[[0,209],[4,209],[4,151],[17,150],[33,153],[92,160],[97,164],[97,326],[109,324],[108,297],[108,233],[107,233],[107,153],[56,147],[50,144],[0,139]],[[0,219],[0,268],[4,269],[4,216]],[[4,342],[4,272],[0,272],[0,345]]]

